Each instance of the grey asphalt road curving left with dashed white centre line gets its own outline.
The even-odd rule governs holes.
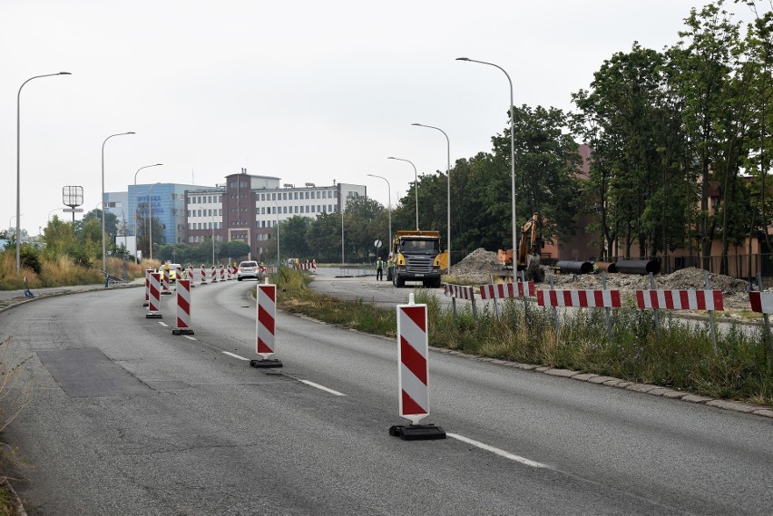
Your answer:
[[[32,516],[771,512],[768,418],[433,352],[449,438],[400,441],[396,343],[279,314],[251,368],[254,288],[194,288],[192,339],[139,288],[0,313]]]

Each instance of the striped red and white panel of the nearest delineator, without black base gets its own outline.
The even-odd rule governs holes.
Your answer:
[[[429,415],[426,305],[397,305],[399,415],[418,424]]]

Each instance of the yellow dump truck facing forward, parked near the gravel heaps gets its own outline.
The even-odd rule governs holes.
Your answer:
[[[440,271],[448,267],[448,252],[440,249],[440,231],[396,231],[388,266],[395,287],[405,286],[406,281],[440,287]]]

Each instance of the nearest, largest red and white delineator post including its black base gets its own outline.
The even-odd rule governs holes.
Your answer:
[[[429,415],[428,359],[426,305],[416,305],[410,294],[407,305],[397,305],[397,384],[399,415],[411,424],[389,428],[404,441],[445,439],[443,428],[418,424]]]

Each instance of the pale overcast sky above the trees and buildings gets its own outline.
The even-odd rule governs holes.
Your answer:
[[[105,191],[125,191],[135,174],[213,186],[247,169],[297,186],[364,184],[394,208],[414,170],[388,156],[419,175],[446,169],[443,134],[411,123],[445,131],[452,163],[490,151],[508,123],[504,73],[455,58],[504,68],[516,105],[572,110],[605,59],[634,41],[676,44],[704,4],[0,0],[0,228],[16,225],[17,106],[31,235],[71,218],[65,186],[83,187],[85,212],[98,208],[103,175]],[[72,75],[22,87],[59,72]]]

